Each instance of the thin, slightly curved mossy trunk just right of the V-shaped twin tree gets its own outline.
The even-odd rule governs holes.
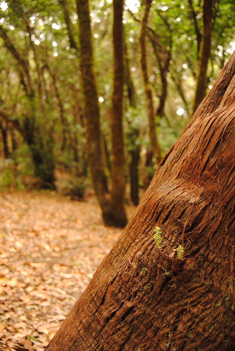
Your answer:
[[[145,83],[145,93],[146,93],[146,105],[147,105],[147,114],[148,114],[148,124],[149,124],[149,138],[150,144],[153,150],[153,157],[156,158],[157,163],[161,160],[161,150],[158,144],[157,135],[156,135],[156,126],[154,120],[154,112],[153,112],[153,98],[151,87],[148,82],[148,74],[147,74],[147,62],[146,62],[146,27],[148,20],[148,13],[150,10],[152,0],[145,1],[144,13],[141,21],[141,33],[140,33],[140,48],[141,48],[141,67],[143,80]]]

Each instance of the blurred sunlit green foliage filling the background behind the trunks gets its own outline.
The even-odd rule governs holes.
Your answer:
[[[200,32],[202,2],[192,3],[193,10],[187,0],[166,0],[164,3],[155,1],[149,13],[150,31],[146,42],[154,113],[162,94],[161,70],[167,53],[170,53],[168,71],[164,72],[167,75],[164,114],[155,118],[162,156],[175,143],[192,112],[200,40],[196,25]],[[34,168],[47,179],[53,178],[54,168],[61,164],[70,170],[76,168],[76,172],[78,170],[83,174],[87,169],[80,53],[71,48],[64,7],[61,4],[61,1],[51,0],[14,0],[7,1],[8,8],[0,8],[1,109],[8,113],[8,122],[14,123],[14,128],[23,135],[24,142],[31,145],[31,141],[26,139],[32,137]],[[78,16],[73,5],[68,5],[69,15],[72,33],[78,43]],[[133,101],[130,103],[129,86],[127,87],[127,81],[124,82],[123,127],[126,150],[130,153],[135,148],[140,148],[139,172],[143,175],[139,178],[142,183],[146,173],[147,177],[152,178],[154,168],[152,165],[145,168],[144,165],[150,144],[146,98],[138,61],[143,2],[134,10],[132,14],[125,6],[123,11],[127,56],[125,62],[129,66],[133,83]],[[234,11],[235,4],[232,0],[221,0],[214,4],[211,59],[207,70],[209,88],[234,49]],[[94,70],[101,97],[101,128],[107,143],[108,158],[111,149],[110,107],[113,90],[113,48],[110,45],[112,2],[93,0],[90,2],[90,12]],[[196,14],[196,25],[193,13]],[[7,43],[4,35],[7,35]],[[150,38],[155,40],[155,47]],[[12,47],[15,48],[14,52]],[[24,79],[26,84],[23,84]],[[176,111],[180,108],[183,109],[183,114],[179,115]],[[10,124],[9,128],[12,128]],[[22,140],[18,144],[22,145]],[[14,183],[8,172],[2,176],[3,184],[6,185]]]

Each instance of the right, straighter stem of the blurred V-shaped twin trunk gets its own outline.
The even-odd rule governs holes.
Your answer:
[[[113,47],[114,79],[112,97],[112,210],[114,225],[127,224],[125,211],[125,156],[122,128],[122,95],[123,95],[123,35],[122,13],[123,1],[113,0]],[[115,220],[116,218],[116,220]],[[117,221],[117,223],[115,223]]]

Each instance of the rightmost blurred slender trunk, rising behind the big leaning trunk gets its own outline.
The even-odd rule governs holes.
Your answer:
[[[206,94],[207,64],[210,57],[210,40],[212,35],[212,2],[213,0],[204,0],[203,2],[203,34],[199,51],[200,61],[193,112],[196,111]]]

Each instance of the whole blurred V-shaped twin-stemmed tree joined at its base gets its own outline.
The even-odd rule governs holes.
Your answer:
[[[90,12],[88,0],[77,0],[79,16],[80,66],[83,80],[86,114],[86,137],[88,159],[93,186],[102,209],[105,224],[124,227],[127,217],[124,207],[125,178],[124,150],[122,137],[122,92],[123,92],[123,57],[122,57],[122,8],[120,1],[114,1],[114,91],[112,117],[112,191],[108,190],[102,154],[100,109],[98,92],[93,69],[93,48],[90,29]],[[121,20],[121,22],[120,22]]]

